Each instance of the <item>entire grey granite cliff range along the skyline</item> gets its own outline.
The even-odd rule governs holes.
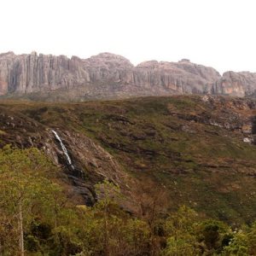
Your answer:
[[[67,92],[73,99],[171,94],[253,95],[256,73],[220,74],[183,59],[145,61],[134,67],[120,55],[102,53],[88,59],[60,55],[0,55],[0,95],[51,96]]]

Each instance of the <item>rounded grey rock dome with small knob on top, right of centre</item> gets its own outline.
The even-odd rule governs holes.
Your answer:
[[[189,60],[176,62],[146,61],[134,72],[134,84],[154,86],[166,92],[179,94],[207,93],[212,84],[220,78],[212,67],[204,67]]]

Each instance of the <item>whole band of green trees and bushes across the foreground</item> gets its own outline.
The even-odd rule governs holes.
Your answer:
[[[119,207],[119,188],[107,181],[96,186],[94,207],[74,205],[37,148],[6,146],[0,166],[1,255],[256,254],[256,223],[232,230],[189,207],[168,213],[164,189],[141,188],[136,216]]]

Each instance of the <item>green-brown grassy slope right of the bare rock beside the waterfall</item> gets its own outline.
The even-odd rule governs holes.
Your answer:
[[[222,111],[196,96],[3,106],[92,137],[126,172],[165,186],[172,209],[184,203],[233,224],[256,218],[256,147],[236,131],[204,124]]]

